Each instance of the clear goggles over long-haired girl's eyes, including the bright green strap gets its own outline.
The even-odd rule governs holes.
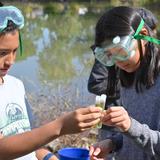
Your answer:
[[[93,52],[95,58],[105,66],[113,66],[116,61],[126,61],[136,53],[136,40],[143,39],[160,44],[160,40],[139,34],[144,26],[143,19],[134,35],[116,36],[112,40],[105,41],[105,47],[95,47]]]

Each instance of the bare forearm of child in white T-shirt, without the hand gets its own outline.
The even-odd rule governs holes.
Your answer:
[[[60,135],[61,123],[55,120],[40,128],[0,139],[0,160],[10,160],[26,155]]]

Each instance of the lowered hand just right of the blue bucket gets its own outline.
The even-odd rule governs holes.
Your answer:
[[[96,143],[90,147],[90,160],[105,160],[112,149],[113,143],[110,139]]]

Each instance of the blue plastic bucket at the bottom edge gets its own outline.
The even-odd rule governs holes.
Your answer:
[[[60,160],[89,160],[89,150],[85,148],[63,148],[58,155]]]

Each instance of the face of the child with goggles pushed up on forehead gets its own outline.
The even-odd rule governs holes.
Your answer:
[[[0,77],[4,77],[16,58],[19,32],[13,31],[0,36]]]

